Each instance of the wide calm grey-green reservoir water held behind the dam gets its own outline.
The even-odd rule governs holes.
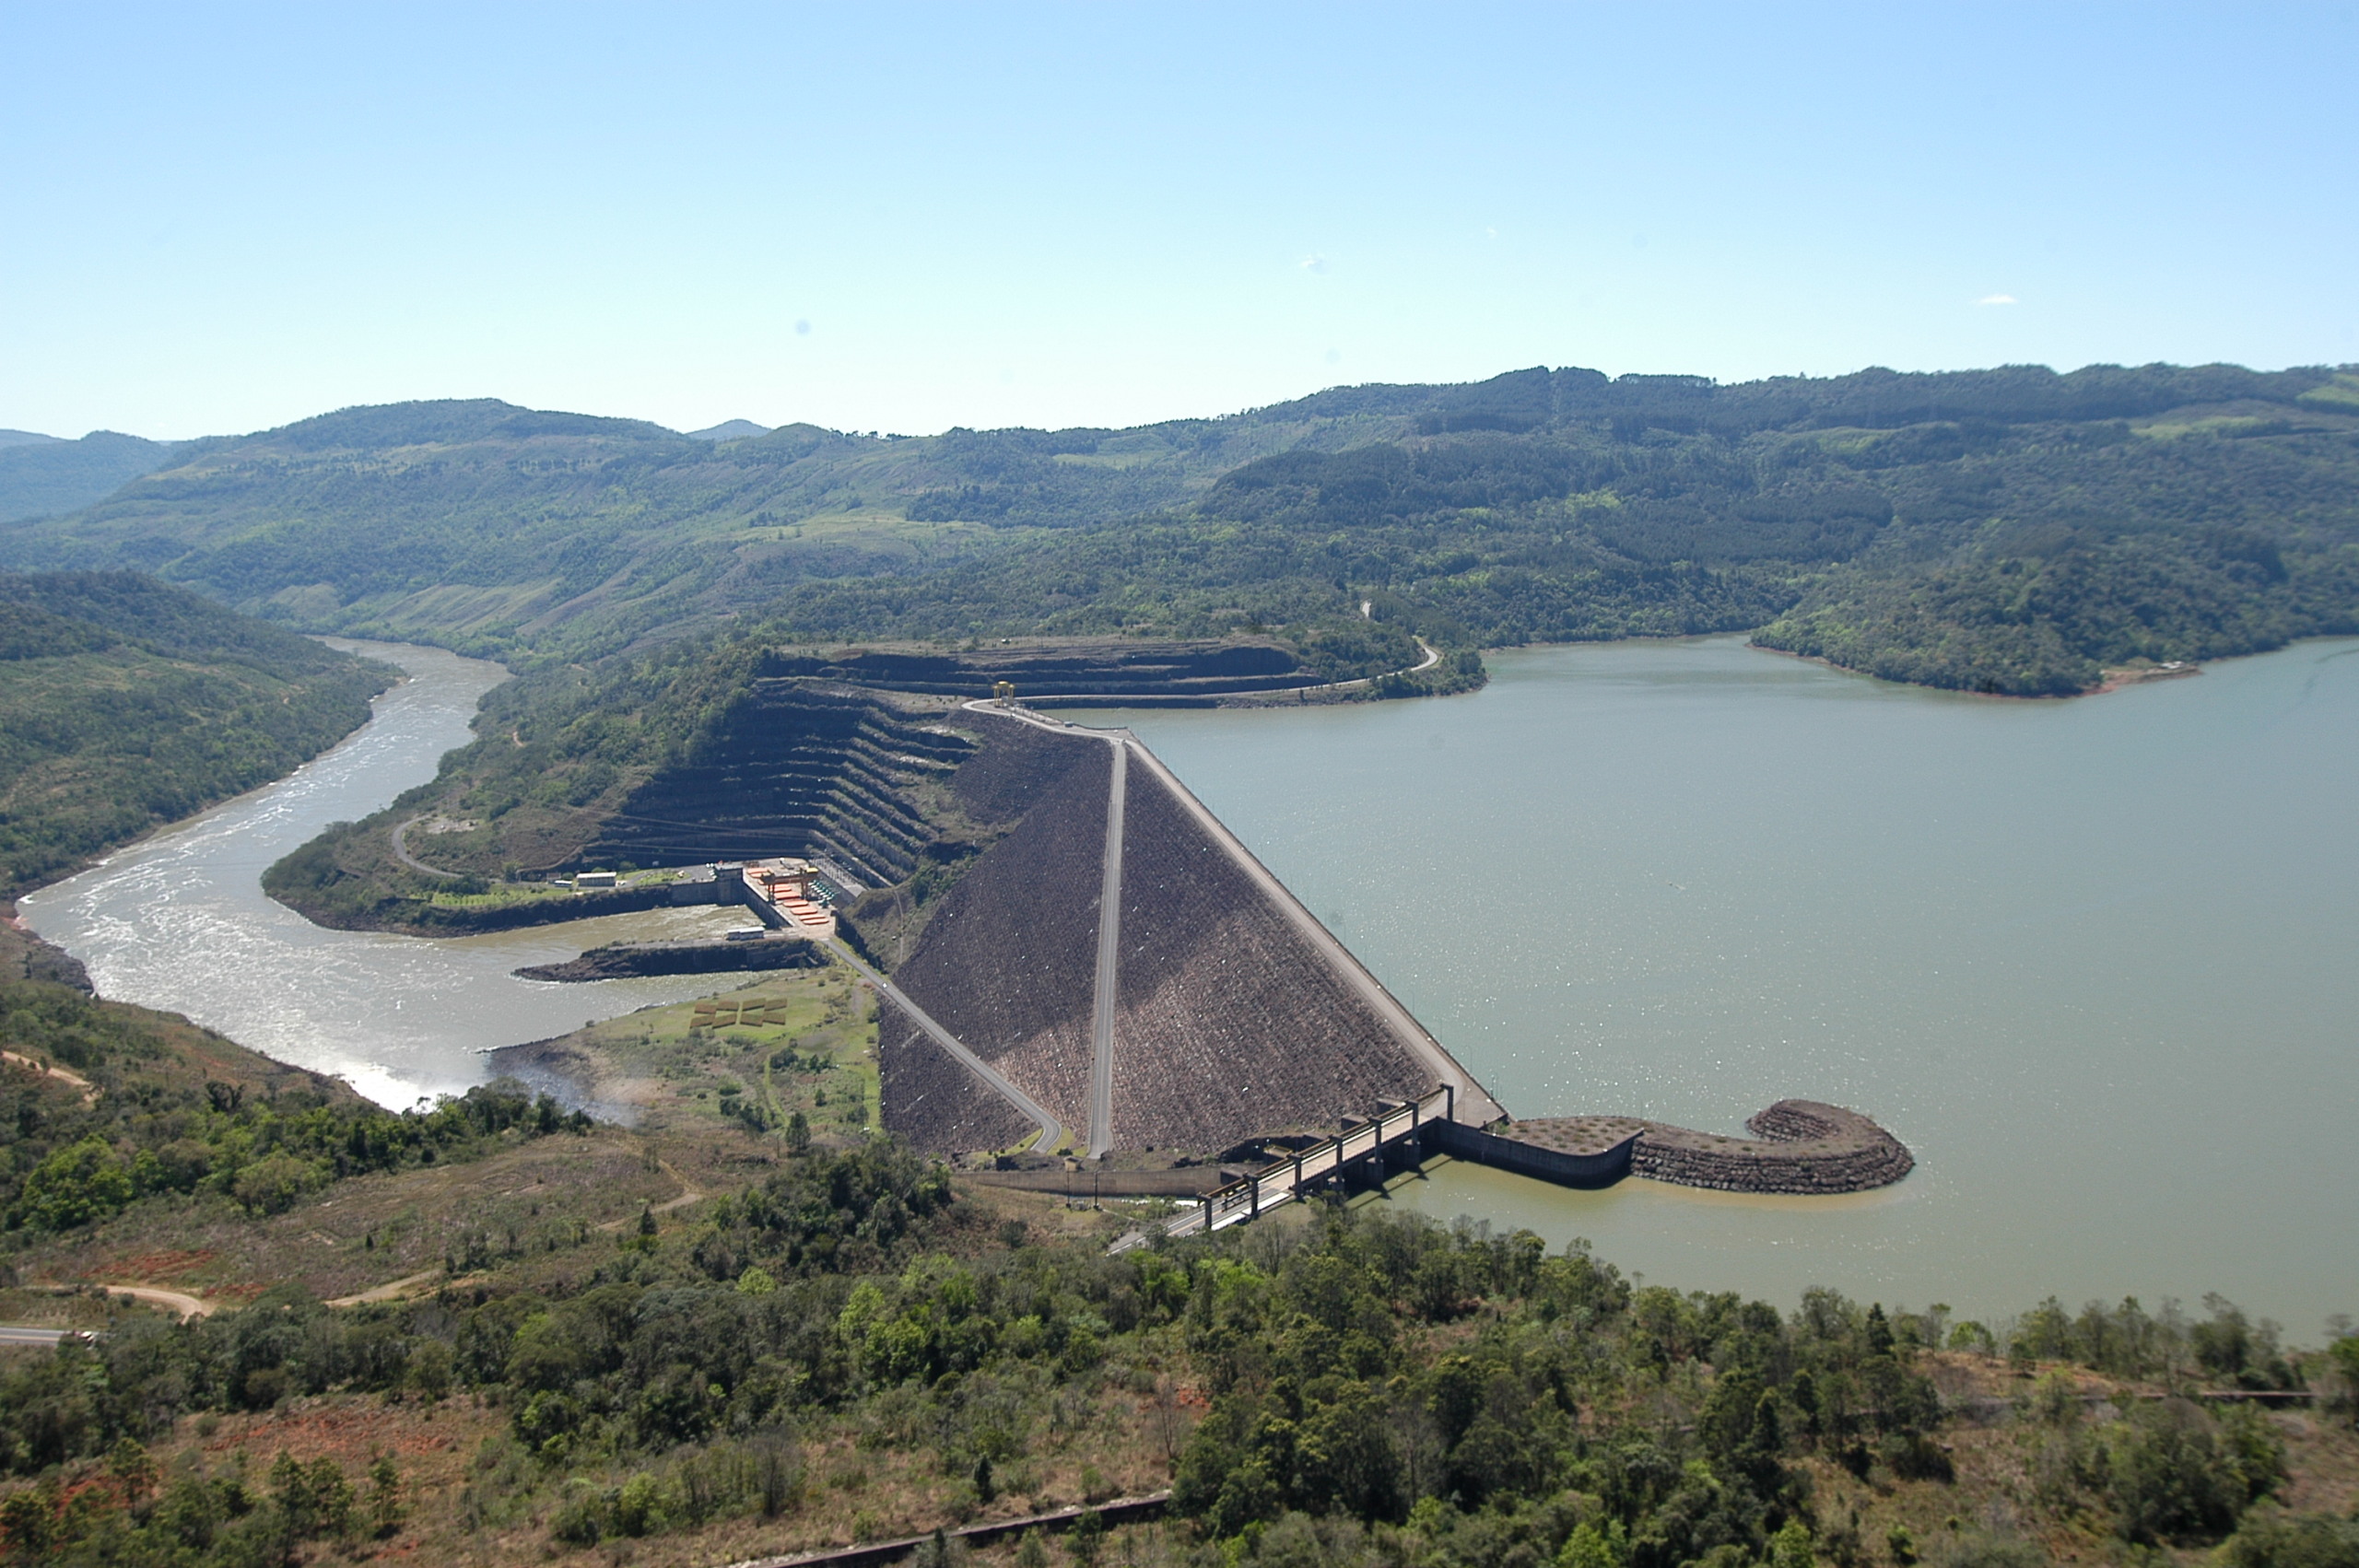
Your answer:
[[[1793,1200],[1448,1165],[1394,1203],[1781,1304],[2359,1313],[2359,641],[2071,703],[1741,639],[1491,665],[1118,719],[1517,1115],[1828,1099],[1918,1170]]]

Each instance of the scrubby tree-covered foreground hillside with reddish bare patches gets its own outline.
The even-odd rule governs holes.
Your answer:
[[[193,1120],[238,1129],[203,1103]],[[432,1115],[283,1106],[245,1125],[271,1153],[226,1186],[142,1186],[137,1155],[125,1170],[83,1144],[19,1186],[26,1269],[116,1254],[153,1214],[276,1236],[283,1264],[217,1316],[116,1311],[83,1318],[92,1344],[0,1358],[14,1561],[686,1568],[929,1533],[927,1568],[2133,1568],[2215,1544],[2227,1568],[2347,1568],[2359,1551],[2359,1339],[2291,1353],[2217,1299],[2201,1320],[2045,1302],[1996,1330],[1835,1290],[1781,1311],[1637,1283],[1585,1245],[1328,1205],[1106,1257],[1111,1217],[970,1188],[802,1118],[708,1134],[738,1146],[727,1188],[590,1226],[580,1184],[524,1172],[630,1144],[686,1160],[686,1141],[552,1139],[557,1118],[498,1089]],[[382,1141],[382,1165],[344,1174],[344,1144],[307,1141],[337,1127]],[[436,1148],[446,1167],[420,1167]],[[311,1174],[248,1184],[271,1165]],[[498,1219],[439,1290],[323,1304],[304,1278],[427,1224],[403,1207],[427,1181]],[[66,1205],[68,1188],[101,1198]],[[1142,1495],[1168,1495],[1163,1518],[1092,1507]],[[1059,1516],[988,1549],[953,1535],[1043,1511]]]

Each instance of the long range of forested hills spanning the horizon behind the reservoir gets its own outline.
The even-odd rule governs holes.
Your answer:
[[[1894,679],[2359,630],[2359,375],[1519,370],[1128,431],[698,441],[408,403],[182,448],[0,556],[134,564],[314,630],[512,658],[771,639],[1757,630]]]

